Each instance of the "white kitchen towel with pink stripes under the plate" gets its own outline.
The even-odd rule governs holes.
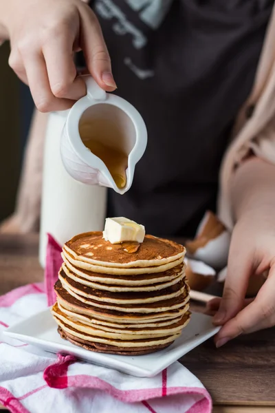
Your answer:
[[[45,286],[30,284],[0,297],[0,403],[14,413],[210,413],[207,390],[178,362],[153,378],[131,377],[2,334],[52,305],[60,251],[49,237]]]

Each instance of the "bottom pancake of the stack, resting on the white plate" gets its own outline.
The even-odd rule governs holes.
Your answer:
[[[101,344],[101,343],[87,344],[85,340],[78,339],[74,337],[73,335],[70,335],[68,332],[65,333],[60,326],[58,326],[58,332],[61,335],[61,338],[68,340],[75,346],[82,347],[85,350],[94,351],[94,352],[104,352],[106,354],[120,354],[122,356],[140,356],[142,354],[148,354],[153,351],[162,350],[163,348],[166,348],[173,343],[172,341],[172,343],[164,344],[162,346],[151,346],[150,348],[146,348],[144,350],[139,350],[139,351],[126,350],[125,348],[123,350],[120,350],[120,348],[116,348],[115,346],[107,346],[106,344]]]

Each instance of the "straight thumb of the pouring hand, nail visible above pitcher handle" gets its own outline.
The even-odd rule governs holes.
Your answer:
[[[88,8],[80,10],[82,24],[80,45],[91,76],[102,89],[112,92],[116,89],[116,85],[107,46],[96,16],[91,10],[87,10]]]

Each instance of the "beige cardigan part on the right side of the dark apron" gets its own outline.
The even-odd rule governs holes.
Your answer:
[[[219,217],[232,229],[234,218],[230,180],[250,151],[275,164],[275,5],[265,36],[252,92],[241,108],[233,128],[230,147],[220,171]]]

